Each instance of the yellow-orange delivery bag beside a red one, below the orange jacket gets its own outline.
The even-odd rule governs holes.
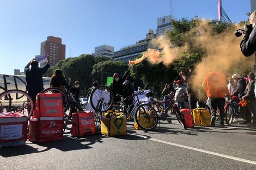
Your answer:
[[[202,127],[210,127],[211,114],[209,110],[205,108],[193,109],[193,121],[194,121],[194,125],[200,125]]]

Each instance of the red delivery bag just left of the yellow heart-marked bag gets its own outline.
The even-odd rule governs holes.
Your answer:
[[[95,134],[93,111],[77,111],[72,113],[71,135],[84,136]]]

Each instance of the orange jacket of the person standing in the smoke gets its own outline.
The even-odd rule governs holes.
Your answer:
[[[203,88],[210,98],[224,98],[230,95],[227,87],[227,79],[221,72],[212,71],[205,75]]]

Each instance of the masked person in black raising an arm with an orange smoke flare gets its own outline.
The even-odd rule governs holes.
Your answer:
[[[124,91],[123,91],[123,83],[127,77],[127,75],[130,73],[131,68],[129,67],[128,70],[125,72],[125,74],[123,75],[123,77],[120,78],[120,75],[118,73],[114,73],[113,75],[113,82],[111,83],[111,85],[109,86],[110,89],[113,92],[113,96],[114,96],[114,102],[119,102],[120,98],[115,98],[115,96],[117,95],[124,95]]]

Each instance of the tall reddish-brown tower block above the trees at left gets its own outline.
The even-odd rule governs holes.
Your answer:
[[[41,42],[41,54],[48,54],[48,64],[56,65],[60,60],[66,58],[66,45],[62,44],[62,39],[59,37],[48,36],[47,40]]]

